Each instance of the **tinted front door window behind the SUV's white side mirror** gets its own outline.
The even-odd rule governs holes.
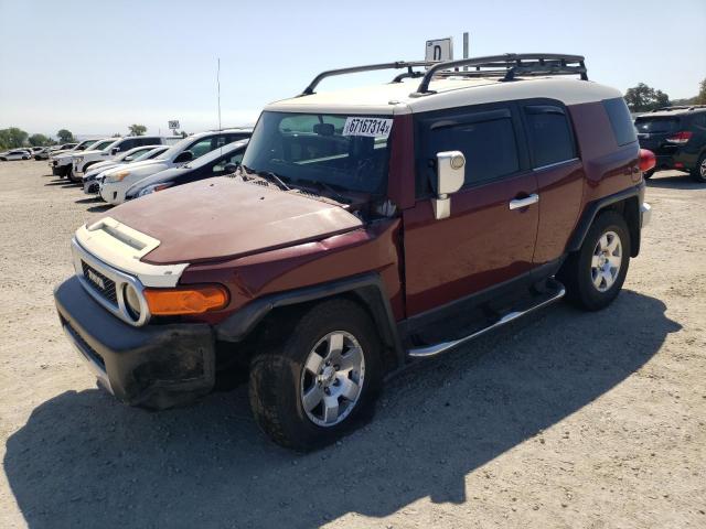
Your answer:
[[[520,171],[517,140],[510,110],[448,115],[420,123],[418,195],[432,191],[438,152],[461,151],[466,156],[464,186]]]

